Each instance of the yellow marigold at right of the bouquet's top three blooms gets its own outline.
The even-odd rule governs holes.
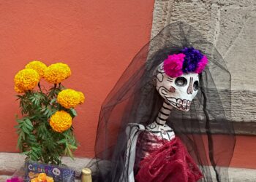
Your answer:
[[[52,84],[59,84],[71,75],[71,70],[67,64],[55,63],[45,69],[45,80]]]

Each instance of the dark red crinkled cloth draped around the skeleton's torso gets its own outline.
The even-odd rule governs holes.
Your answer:
[[[195,182],[203,177],[178,138],[140,161],[135,180],[138,182]]]

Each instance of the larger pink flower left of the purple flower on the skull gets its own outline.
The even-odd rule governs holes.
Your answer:
[[[164,60],[165,74],[173,78],[181,76],[181,74],[183,74],[182,66],[185,56],[186,55],[183,53],[169,55],[168,58]]]

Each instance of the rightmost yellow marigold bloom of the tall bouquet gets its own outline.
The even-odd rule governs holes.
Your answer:
[[[84,96],[82,92],[66,89],[59,92],[57,100],[64,108],[75,108],[78,104],[83,103]]]

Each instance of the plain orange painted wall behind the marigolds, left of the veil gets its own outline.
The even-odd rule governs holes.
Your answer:
[[[154,0],[1,1],[0,151],[15,151],[13,77],[30,60],[62,61],[86,95],[73,122],[78,156],[92,156],[102,101],[150,37]]]

